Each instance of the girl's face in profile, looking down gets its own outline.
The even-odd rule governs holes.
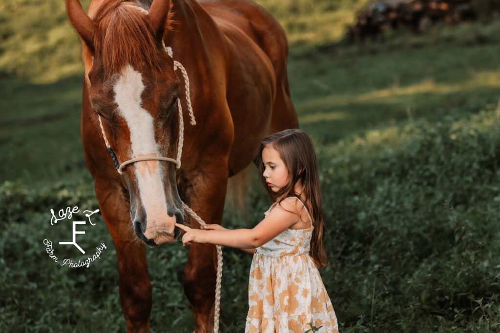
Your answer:
[[[288,184],[290,181],[288,169],[278,151],[270,145],[262,149],[262,163],[264,164],[262,176],[273,192],[278,192]]]

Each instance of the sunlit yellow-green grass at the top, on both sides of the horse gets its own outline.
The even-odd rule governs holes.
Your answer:
[[[90,0],[80,1],[87,10]],[[342,38],[345,24],[367,0],[259,0],[283,26],[289,43],[317,45]],[[64,1],[6,0],[0,3],[0,74],[31,82],[54,82],[82,72],[80,41]]]

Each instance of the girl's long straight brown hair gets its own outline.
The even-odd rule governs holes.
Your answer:
[[[272,146],[279,153],[290,176],[290,182],[277,193],[274,193],[266,186],[265,178],[262,176],[264,172],[262,150],[267,146]],[[261,142],[255,163],[260,171],[260,180],[273,202],[281,202],[288,197],[299,197],[295,193],[295,184],[300,182],[305,197],[304,204],[309,211],[314,226],[309,254],[317,268],[326,267],[326,253],[323,247],[324,217],[321,206],[321,190],[317,173],[316,154],[310,137],[299,129],[287,129],[270,135]]]

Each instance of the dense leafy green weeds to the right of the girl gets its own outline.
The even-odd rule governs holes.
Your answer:
[[[332,161],[321,171],[331,262],[323,278],[338,318],[345,328],[374,332],[481,332],[485,319],[498,325],[494,113],[390,132],[320,157]],[[490,305],[485,317],[479,299]]]

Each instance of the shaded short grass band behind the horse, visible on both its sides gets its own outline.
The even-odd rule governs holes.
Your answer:
[[[349,46],[313,50],[292,54],[288,68],[301,126],[321,143],[387,121],[463,108],[477,112],[498,98],[497,43],[429,44],[374,54],[357,54]],[[5,166],[0,181],[22,177],[37,186],[86,175],[78,125],[81,81],[80,75],[48,84],[0,81],[0,161]]]

